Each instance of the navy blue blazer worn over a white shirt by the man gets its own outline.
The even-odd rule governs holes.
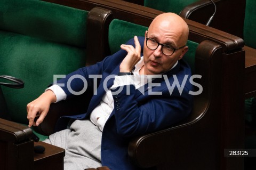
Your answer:
[[[144,39],[145,37],[139,37],[141,49],[143,49]],[[126,44],[134,46],[134,40],[131,39]],[[102,96],[105,94],[103,88],[105,78],[109,75],[118,74],[119,64],[125,58],[126,54],[126,51],[120,50],[113,55],[107,56],[103,61],[89,67],[78,69],[67,75],[66,78],[58,81],[58,83],[65,84],[62,89],[66,92],[67,98],[70,98],[74,95],[70,93],[67,87],[67,81],[71,76],[82,75],[85,77],[87,80],[86,91],[93,91],[93,79],[89,78],[89,75],[102,75],[102,78],[97,79],[97,95],[93,95],[87,112],[79,115],[80,119],[90,117],[91,111],[99,104]],[[193,91],[193,86],[189,83],[191,71],[188,64],[181,59],[177,66],[166,72],[165,75],[167,77],[164,78],[162,76],[153,80],[153,83],[158,83],[157,86],[146,84],[141,87],[142,91],[141,89],[135,90],[133,85],[127,85],[124,86],[119,94],[113,96],[114,110],[109,116],[102,132],[102,166],[108,166],[111,170],[139,169],[130,162],[127,154],[129,139],[134,136],[166,128],[189,115],[192,108],[193,96],[188,93],[189,91]],[[181,94],[177,86],[173,88],[173,91],[170,90],[175,80],[175,76],[173,75],[177,77],[180,85],[185,75],[188,75]],[[113,85],[113,80],[114,78],[111,78],[107,81],[107,88]],[[70,87],[74,91],[79,92],[84,88],[84,82],[79,78],[73,79]],[[130,95],[126,94],[127,88],[130,88]],[[150,95],[150,92],[162,92],[162,95]],[[74,116],[74,118],[77,118],[77,116]]]

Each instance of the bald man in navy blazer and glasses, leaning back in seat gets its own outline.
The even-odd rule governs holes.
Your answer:
[[[129,160],[127,147],[134,136],[155,132],[187,117],[191,111],[193,86],[188,64],[188,26],[174,13],[158,15],[145,37],[135,36],[122,50],[102,62],[84,67],[58,80],[27,106],[29,127],[43,122],[50,104],[76,95],[87,81],[84,93],[94,90],[85,114],[71,116],[70,127],[49,136],[45,142],[66,150],[65,169],[108,166],[139,169]],[[143,46],[143,54],[141,53]],[[101,75],[94,84],[93,75]],[[68,80],[76,76],[67,85]],[[83,77],[83,78],[81,78]],[[61,84],[61,86],[59,86]],[[172,86],[174,84],[174,86]],[[36,122],[34,118],[38,116]]]

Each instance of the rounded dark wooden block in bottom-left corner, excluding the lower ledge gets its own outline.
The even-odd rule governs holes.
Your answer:
[[[34,169],[33,131],[24,125],[0,118],[1,169]]]

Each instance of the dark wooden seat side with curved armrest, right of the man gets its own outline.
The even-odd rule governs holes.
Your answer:
[[[212,151],[212,155],[207,155],[209,160],[214,160],[213,155],[218,152],[216,143],[219,136],[215,133],[218,123],[214,122],[219,119],[215,112],[220,111],[220,108],[216,107],[220,101],[214,98],[220,97],[218,94],[213,95],[212,92],[217,92],[221,87],[219,76],[221,72],[217,70],[218,63],[221,63],[218,57],[220,52],[219,44],[210,41],[199,44],[196,52],[196,72],[202,75],[203,93],[195,96],[193,112],[182,122],[130,141],[128,154],[137,166],[149,168],[168,162],[173,163],[174,169],[186,169],[186,165],[182,165],[183,160],[180,160],[186,157],[190,159],[186,162],[195,167],[214,164],[210,161],[203,164],[198,161],[199,157],[203,159],[206,156],[204,153],[206,149]],[[212,136],[209,135],[210,132],[214,132]]]

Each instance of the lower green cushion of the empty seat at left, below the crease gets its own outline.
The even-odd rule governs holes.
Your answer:
[[[85,66],[85,49],[0,31],[0,72],[22,79],[21,89],[2,86],[13,121],[27,122],[26,106],[53,82],[53,75],[65,75]]]

